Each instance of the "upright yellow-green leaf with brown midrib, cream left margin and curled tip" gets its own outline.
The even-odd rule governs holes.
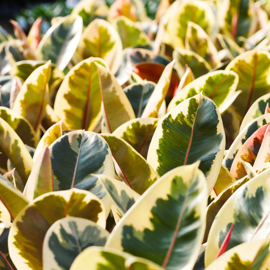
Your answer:
[[[56,94],[54,110],[69,129],[94,131],[101,120],[100,84],[95,63],[106,66],[100,58],[81,61],[67,73]]]

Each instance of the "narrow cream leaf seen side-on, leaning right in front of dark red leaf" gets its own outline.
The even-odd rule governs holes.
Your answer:
[[[165,67],[155,90],[152,92],[152,95],[150,96],[143,110],[141,117],[157,117],[160,106],[165,100],[165,97],[169,90],[173,65],[174,61],[172,61]]]

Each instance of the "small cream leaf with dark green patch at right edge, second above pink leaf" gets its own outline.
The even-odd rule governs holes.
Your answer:
[[[270,111],[267,110],[267,103],[270,104],[270,94],[265,94],[259,97],[254,103],[250,106],[249,110],[247,111],[241,126],[240,132],[247,126],[251,121],[260,117],[265,113],[269,113]]]

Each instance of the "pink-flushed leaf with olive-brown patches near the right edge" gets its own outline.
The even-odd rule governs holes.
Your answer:
[[[254,162],[257,158],[258,152],[261,148],[263,140],[268,141],[270,139],[270,133],[269,133],[269,124],[263,125],[258,130],[256,130],[243,144],[243,146],[239,149],[239,151],[236,154],[236,157],[234,158],[234,161],[232,163],[232,166],[230,167],[230,173],[236,178],[240,179],[247,175],[246,170],[243,165],[243,161],[250,163],[252,166],[254,165]],[[265,162],[269,162],[270,157],[270,151],[269,146],[264,146],[266,152],[261,153],[260,159],[263,159]],[[262,154],[264,154],[262,157]],[[257,168],[260,167],[259,165],[262,165],[264,162],[257,161]]]

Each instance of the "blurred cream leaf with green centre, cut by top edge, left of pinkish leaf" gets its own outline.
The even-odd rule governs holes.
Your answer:
[[[108,12],[108,6],[101,1],[82,0],[73,8],[71,14],[80,15],[83,18],[84,27],[87,27],[94,19],[105,20]]]

